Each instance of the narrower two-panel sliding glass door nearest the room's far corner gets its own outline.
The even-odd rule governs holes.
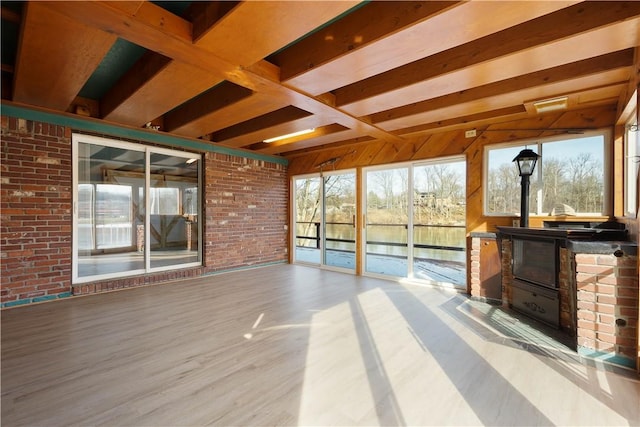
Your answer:
[[[355,173],[298,177],[293,191],[294,261],[355,270]]]

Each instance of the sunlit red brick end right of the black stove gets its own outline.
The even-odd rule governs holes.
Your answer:
[[[578,345],[637,357],[637,257],[576,254]]]

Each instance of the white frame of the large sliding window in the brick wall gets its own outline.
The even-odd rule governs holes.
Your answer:
[[[197,170],[197,211],[201,218],[204,218],[202,215],[203,212],[203,202],[202,202],[202,194],[203,194],[203,156],[200,153],[182,151],[182,150],[174,150],[169,148],[162,148],[152,145],[147,145],[143,142],[133,142],[133,141],[123,141],[118,139],[112,139],[109,137],[99,137],[93,135],[87,135],[82,133],[72,133],[72,274],[71,274],[71,283],[72,284],[82,284],[82,283],[90,283],[99,280],[105,279],[113,279],[113,278],[122,278],[122,277],[131,277],[140,274],[148,274],[155,273],[160,271],[168,271],[168,270],[179,270],[183,268],[189,267],[199,267],[203,265],[203,224],[202,221],[197,221],[197,228],[195,232],[197,233],[197,262],[185,262],[181,264],[172,264],[168,266],[157,266],[152,267],[150,265],[152,251],[150,250],[150,233],[145,233],[145,241],[144,241],[144,268],[131,269],[127,271],[115,272],[115,273],[104,273],[104,274],[95,274],[91,276],[79,276],[79,146],[80,144],[91,144],[98,145],[103,147],[117,148],[127,151],[133,151],[142,153],[145,159],[145,172],[144,172],[144,189],[145,194],[149,194],[150,186],[151,186],[151,155],[152,154],[164,154],[168,156],[174,156],[179,158],[184,158],[185,162],[189,159],[197,159],[198,160],[198,170]],[[145,197],[145,219],[144,224],[145,228],[148,224],[150,224],[150,197]]]

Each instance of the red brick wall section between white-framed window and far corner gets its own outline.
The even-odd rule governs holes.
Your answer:
[[[286,167],[219,153],[205,160],[206,269],[286,261]]]

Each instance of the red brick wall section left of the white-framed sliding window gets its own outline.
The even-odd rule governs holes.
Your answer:
[[[0,274],[4,305],[71,291],[71,134],[2,117]]]

